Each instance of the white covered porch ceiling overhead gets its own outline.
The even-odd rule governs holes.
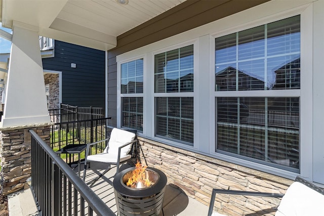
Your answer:
[[[118,35],[185,1],[0,0],[0,21],[3,27],[18,23],[42,36],[106,51],[116,47]]]

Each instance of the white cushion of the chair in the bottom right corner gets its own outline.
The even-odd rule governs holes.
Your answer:
[[[324,195],[294,182],[282,197],[275,216],[324,215]]]

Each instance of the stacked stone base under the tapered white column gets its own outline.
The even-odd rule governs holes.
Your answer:
[[[33,129],[50,145],[51,123],[0,128],[2,194],[29,188],[26,180],[31,176],[31,135]]]

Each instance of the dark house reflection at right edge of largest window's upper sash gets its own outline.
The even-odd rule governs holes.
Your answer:
[[[275,85],[273,89],[300,88],[300,58],[290,61],[279,69],[274,70]]]

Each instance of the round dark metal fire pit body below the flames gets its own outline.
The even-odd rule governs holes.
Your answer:
[[[123,177],[133,171],[134,167],[127,168],[117,174],[113,180],[118,215],[150,216],[159,215],[167,185],[166,175],[155,168],[147,167],[158,175],[158,180],[148,188],[130,188],[126,186]]]

